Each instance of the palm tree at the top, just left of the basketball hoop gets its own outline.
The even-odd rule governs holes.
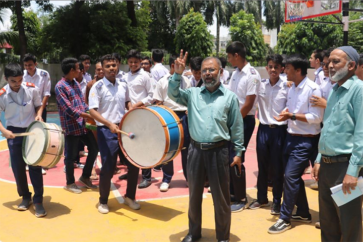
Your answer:
[[[265,26],[268,30],[277,29],[284,23],[285,4],[284,1],[264,1],[264,16],[266,17]]]

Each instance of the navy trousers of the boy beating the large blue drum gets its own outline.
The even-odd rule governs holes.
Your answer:
[[[107,204],[111,188],[111,178],[113,177],[116,168],[117,155],[120,147],[117,134],[111,133],[106,126],[97,127],[97,141],[102,162],[102,168],[99,174],[99,202],[101,204]],[[125,163],[128,167],[128,180],[125,196],[130,199],[135,199],[139,168],[131,164],[127,159],[125,159]]]

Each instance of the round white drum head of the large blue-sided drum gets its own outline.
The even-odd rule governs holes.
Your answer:
[[[121,135],[122,146],[135,163],[142,167],[152,167],[160,163],[169,147],[166,145],[165,129],[159,117],[147,108],[133,109],[124,117],[122,131],[134,133],[130,139]]]

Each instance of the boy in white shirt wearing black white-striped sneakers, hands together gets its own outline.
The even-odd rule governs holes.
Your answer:
[[[283,149],[283,162],[286,167],[283,202],[280,218],[268,229],[272,234],[291,228],[290,221],[310,223],[312,220],[301,175],[312,154],[318,153],[320,123],[324,110],[313,107],[309,102],[312,95],[321,97],[321,89],[307,78],[308,66],[309,61],[304,55],[294,54],[286,58],[287,80],[294,84],[287,94],[286,108],[278,117],[274,117],[278,122],[288,120],[288,134]],[[297,210],[292,214],[295,205]]]

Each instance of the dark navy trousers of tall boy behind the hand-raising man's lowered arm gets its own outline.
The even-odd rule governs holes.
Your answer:
[[[247,115],[244,118],[244,147],[247,150],[248,144],[250,143],[253,131],[255,129],[256,119],[254,115]],[[233,162],[235,156],[234,146],[229,143],[229,164]],[[234,195],[236,201],[240,201],[246,198],[246,168],[244,166],[245,162],[245,152],[242,153],[242,164],[241,173],[236,172],[235,167],[229,166],[230,171],[230,194]]]

